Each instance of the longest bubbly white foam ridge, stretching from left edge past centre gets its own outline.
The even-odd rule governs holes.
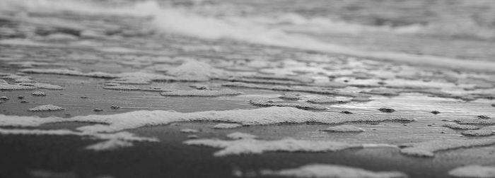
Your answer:
[[[225,121],[242,125],[318,122],[341,124],[351,121],[414,121],[412,118],[373,116],[372,114],[340,114],[334,112],[310,112],[293,107],[266,107],[260,109],[235,109],[227,111],[173,112],[140,110],[110,115],[87,115],[71,118],[17,117],[0,114],[0,126],[39,126],[40,124],[78,121],[100,123],[77,128],[88,132],[115,132],[142,126],[170,124],[177,121]]]

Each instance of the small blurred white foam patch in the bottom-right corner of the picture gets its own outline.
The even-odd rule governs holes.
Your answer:
[[[452,177],[495,177],[495,167],[467,165],[450,170],[448,174]]]

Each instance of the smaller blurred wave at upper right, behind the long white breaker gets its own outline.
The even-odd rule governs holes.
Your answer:
[[[383,32],[397,35],[428,35],[432,37],[465,37],[474,40],[495,40],[495,26],[480,25],[472,18],[448,20],[428,24],[413,23],[411,25],[362,25],[342,20],[303,17],[297,13],[283,13],[266,18],[250,18],[264,25],[278,25],[286,31],[311,33],[351,33]]]

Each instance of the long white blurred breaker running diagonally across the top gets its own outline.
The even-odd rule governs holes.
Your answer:
[[[429,55],[405,54],[398,52],[370,52],[342,45],[322,42],[306,35],[291,34],[278,25],[267,25],[260,23],[259,18],[218,18],[204,16],[187,8],[174,6],[160,6],[156,1],[138,2],[131,6],[105,7],[97,4],[88,4],[81,1],[47,1],[47,0],[23,0],[10,1],[16,6],[23,6],[28,11],[77,11],[81,13],[111,13],[130,16],[152,16],[152,28],[161,32],[187,35],[205,39],[231,39],[262,45],[273,45],[279,47],[291,47],[307,49],[318,52],[334,54],[345,54],[367,59],[380,59],[387,61],[398,61],[401,63],[433,66],[449,69],[467,69],[473,71],[495,71],[495,62],[491,61],[467,61],[452,59],[448,57],[437,57]],[[2,5],[2,4],[0,4]],[[5,6],[4,6],[5,7]],[[292,16],[287,21],[295,24],[322,23],[322,20],[309,20]],[[266,20],[265,20],[266,21]],[[279,21],[284,21],[284,18]],[[331,24],[331,23],[326,23]],[[342,26],[342,24],[341,24]],[[354,27],[354,28],[353,28]],[[360,26],[349,27],[344,24],[343,30],[361,28]],[[363,28],[361,28],[363,29]],[[373,30],[384,30],[375,28]],[[368,29],[369,30],[369,29]],[[387,30],[387,29],[385,29]],[[397,29],[394,29],[397,30]],[[414,32],[415,29],[402,30],[402,32]],[[417,30],[417,29],[416,29]]]

